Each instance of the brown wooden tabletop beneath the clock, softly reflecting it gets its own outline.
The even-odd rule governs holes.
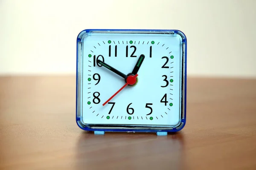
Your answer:
[[[0,78],[0,169],[256,170],[256,79],[188,78],[180,133],[105,133],[75,121],[75,76]]]

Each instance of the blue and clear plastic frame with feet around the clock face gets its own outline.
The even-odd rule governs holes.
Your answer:
[[[82,124],[80,117],[77,115],[77,92],[78,92],[78,42],[81,41],[79,38],[79,35],[81,33],[88,33],[90,31],[173,31],[175,34],[180,34],[182,35],[183,39],[182,42],[185,43],[185,51],[184,51],[184,110],[183,110],[183,119],[180,120],[181,126],[179,128],[172,128],[172,130],[154,130],[154,129],[93,129],[87,126],[81,126]],[[155,132],[157,133],[157,136],[166,136],[168,132],[177,132],[183,129],[183,127],[186,125],[186,65],[187,65],[187,39],[186,35],[180,31],[180,30],[150,30],[150,29],[85,29],[81,31],[76,40],[76,124],[82,129],[82,130],[87,130],[87,131],[94,131],[95,135],[104,135],[105,131],[106,132]]]

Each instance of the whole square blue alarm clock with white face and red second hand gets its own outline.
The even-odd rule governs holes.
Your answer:
[[[87,29],[77,37],[76,122],[95,134],[186,123],[186,36],[179,30]]]

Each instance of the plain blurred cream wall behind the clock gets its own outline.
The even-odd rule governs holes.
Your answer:
[[[0,74],[75,74],[87,28],[179,29],[188,74],[256,77],[256,0],[0,0]]]

